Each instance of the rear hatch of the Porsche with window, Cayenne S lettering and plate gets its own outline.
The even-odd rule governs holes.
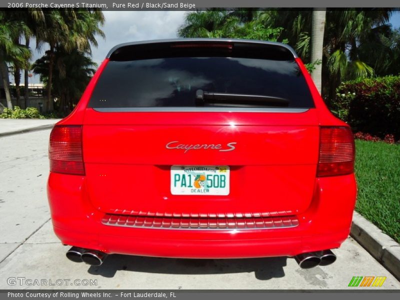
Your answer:
[[[126,45],[85,112],[83,160],[100,211],[290,215],[310,204],[318,120],[287,47]]]

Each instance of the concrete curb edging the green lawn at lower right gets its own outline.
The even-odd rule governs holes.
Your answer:
[[[400,280],[400,244],[355,211],[350,235]]]

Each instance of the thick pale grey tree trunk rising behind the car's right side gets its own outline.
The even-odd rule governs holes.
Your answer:
[[[316,60],[322,61],[322,50],[323,50],[323,31],[325,29],[325,8],[314,8],[312,10],[312,28],[311,28],[311,62]],[[315,69],[312,71],[312,79],[321,93],[322,86],[322,63],[315,65]]]

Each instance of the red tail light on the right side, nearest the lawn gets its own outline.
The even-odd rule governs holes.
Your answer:
[[[320,127],[317,176],[336,176],[354,171],[354,138],[349,127]]]

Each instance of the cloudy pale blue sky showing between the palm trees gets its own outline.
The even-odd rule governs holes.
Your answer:
[[[123,42],[174,38],[177,37],[177,28],[183,23],[185,11],[103,11],[105,17],[104,31],[105,39],[97,38],[98,47],[92,46],[92,60],[98,65],[105,58],[108,51],[115,45]],[[400,12],[396,11],[391,16],[390,22],[393,28],[400,27]],[[34,45],[31,41],[31,45]],[[31,61],[36,60],[44,54],[33,50]],[[10,76],[10,82],[14,82]],[[29,83],[39,83],[39,76],[34,75]]]

